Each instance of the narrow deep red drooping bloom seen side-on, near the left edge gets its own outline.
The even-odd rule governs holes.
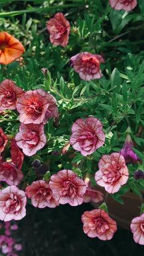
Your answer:
[[[24,155],[19,149],[19,147],[17,147],[15,138],[13,138],[13,140],[11,141],[10,147],[11,147],[11,160],[13,161],[14,165],[16,165],[21,170],[23,160],[24,160]]]

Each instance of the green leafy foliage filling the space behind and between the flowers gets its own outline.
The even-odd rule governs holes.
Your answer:
[[[103,154],[121,150],[128,126],[135,142],[133,150],[143,160],[144,4],[139,1],[136,11],[128,12],[111,9],[108,2],[0,1],[1,31],[13,34],[25,46],[21,62],[0,66],[0,80],[11,79],[25,91],[41,88],[50,92],[56,97],[59,110],[57,123],[50,119],[45,125],[45,147],[31,158],[25,158],[22,171],[25,176],[28,173],[26,182],[37,178],[31,166],[35,159],[41,163],[47,159],[50,162],[44,179],[65,168],[73,169],[80,177],[86,172],[93,175],[98,171]],[[66,14],[71,25],[69,44],[65,48],[53,46],[46,29],[47,20],[58,11]],[[70,67],[70,57],[81,51],[104,57],[105,63],[100,66],[104,74],[101,79],[85,82]],[[46,75],[41,68],[48,69]],[[87,158],[71,146],[65,155],[62,154],[75,120],[87,117],[100,119],[106,134],[105,145]],[[0,122],[8,135],[15,136],[19,130],[15,110],[5,110]],[[53,155],[55,151],[58,155]],[[129,166],[128,185],[112,195],[119,203],[123,203],[121,196],[129,189],[139,196],[140,188],[144,190],[143,181],[136,182],[133,177],[137,165]]]

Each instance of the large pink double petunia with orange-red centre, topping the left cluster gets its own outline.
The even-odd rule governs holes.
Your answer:
[[[46,123],[57,109],[56,102],[51,94],[41,89],[25,92],[17,103],[20,122],[23,124],[41,124],[44,121]]]

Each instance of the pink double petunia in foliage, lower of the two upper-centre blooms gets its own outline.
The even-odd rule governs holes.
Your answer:
[[[105,61],[98,54],[91,54],[85,51],[71,57],[70,62],[82,80],[89,81],[103,76],[100,70],[100,62],[104,63]]]

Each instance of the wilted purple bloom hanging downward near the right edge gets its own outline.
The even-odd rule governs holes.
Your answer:
[[[126,164],[137,164],[137,161],[141,161],[139,156],[131,149],[134,148],[133,141],[131,140],[130,135],[128,134],[123,148],[119,151],[119,154],[124,156]]]

